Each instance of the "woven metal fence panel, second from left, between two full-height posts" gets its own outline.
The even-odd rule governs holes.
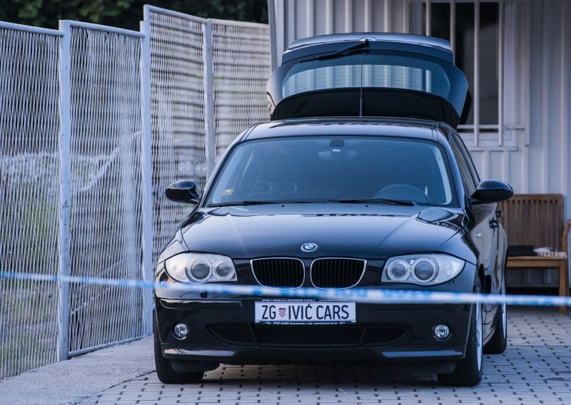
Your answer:
[[[77,23],[67,29],[69,274],[141,280],[142,38]],[[142,312],[141,289],[71,284],[69,354],[143,336]]]

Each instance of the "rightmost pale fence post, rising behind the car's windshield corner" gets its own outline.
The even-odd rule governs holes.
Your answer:
[[[216,140],[214,138],[214,75],[212,61],[212,20],[207,19],[202,26],[204,62],[204,131],[206,135],[206,180],[216,165]]]

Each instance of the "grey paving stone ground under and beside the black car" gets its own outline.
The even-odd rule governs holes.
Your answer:
[[[507,350],[485,357],[473,388],[440,386],[404,366],[221,366],[201,384],[144,374],[81,404],[571,404],[571,317],[555,308],[509,314]]]

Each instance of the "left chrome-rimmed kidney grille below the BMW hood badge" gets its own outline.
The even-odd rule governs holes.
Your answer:
[[[300,287],[305,272],[301,260],[287,258],[252,260],[252,270],[266,287]]]

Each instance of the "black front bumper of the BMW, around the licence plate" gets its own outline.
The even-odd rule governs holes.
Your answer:
[[[300,327],[254,323],[257,299],[156,298],[163,356],[223,364],[425,365],[455,362],[465,356],[470,305],[358,303],[356,324]],[[190,329],[186,339],[173,335],[178,322]],[[451,335],[444,342],[433,337],[436,324],[450,327]],[[370,332],[373,329],[376,334]],[[315,336],[316,341],[303,339],[303,335]]]

